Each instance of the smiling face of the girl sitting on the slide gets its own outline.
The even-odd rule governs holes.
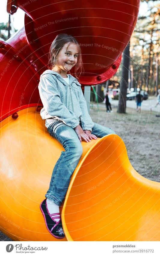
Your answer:
[[[57,56],[57,67],[67,74],[76,63],[78,57],[78,47],[74,43],[66,43]]]

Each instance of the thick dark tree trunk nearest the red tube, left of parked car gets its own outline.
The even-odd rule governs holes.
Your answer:
[[[128,69],[129,69],[129,46],[126,46],[123,52],[123,60],[122,60],[122,77],[120,82],[120,93],[119,93],[119,102],[118,102],[118,112],[125,113],[126,110],[126,95],[128,88]]]

